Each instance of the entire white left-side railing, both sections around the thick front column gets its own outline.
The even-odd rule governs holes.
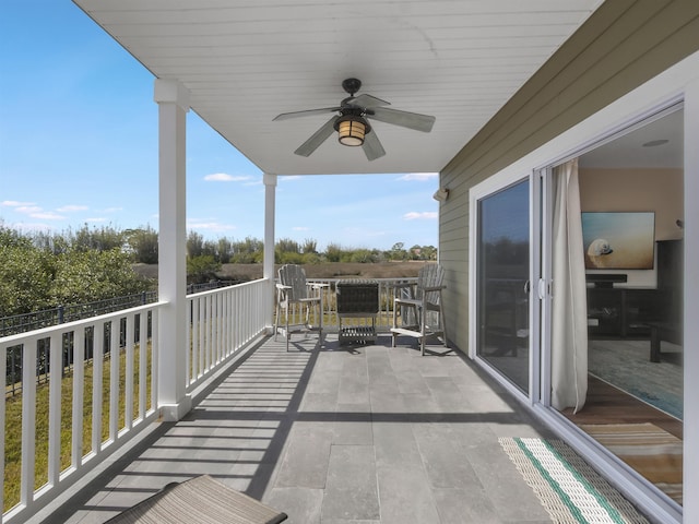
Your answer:
[[[22,367],[0,402],[0,522],[24,522],[156,419],[164,305],[0,338],[2,376],[9,352]],[[266,279],[188,296],[188,392],[263,334],[271,309]]]

